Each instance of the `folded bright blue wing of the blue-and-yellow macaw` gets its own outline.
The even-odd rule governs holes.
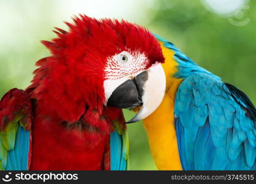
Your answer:
[[[180,104],[191,96],[190,104]],[[244,108],[221,80],[204,73],[187,77],[174,109],[183,169],[256,169],[255,121]]]

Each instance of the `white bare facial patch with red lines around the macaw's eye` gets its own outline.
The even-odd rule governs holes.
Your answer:
[[[147,62],[147,57],[141,52],[123,51],[107,58],[104,69],[105,104],[118,86],[143,72]]]

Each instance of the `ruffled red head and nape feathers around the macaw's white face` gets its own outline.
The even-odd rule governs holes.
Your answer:
[[[69,31],[56,28],[57,38],[42,41],[52,56],[37,61],[28,91],[45,115],[68,123],[90,117],[90,124],[106,130],[101,119],[104,104],[104,67],[107,57],[122,50],[143,52],[147,67],[163,62],[160,45],[147,29],[126,21],[96,20],[85,15],[66,23]],[[102,120],[103,121],[103,120]]]

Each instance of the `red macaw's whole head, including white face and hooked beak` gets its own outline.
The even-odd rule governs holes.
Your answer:
[[[66,24],[68,32],[56,28],[58,38],[42,41],[52,56],[37,63],[41,67],[33,83],[40,83],[34,90],[37,100],[48,98],[45,108],[55,109],[70,122],[77,121],[85,110],[101,112],[104,106],[126,109],[142,105],[132,121],[157,109],[165,93],[160,64],[165,58],[147,29],[85,15]]]

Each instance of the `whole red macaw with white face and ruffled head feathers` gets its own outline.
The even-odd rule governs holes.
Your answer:
[[[51,56],[32,84],[0,102],[0,169],[126,169],[122,108],[150,104],[147,116],[161,102],[164,58],[149,31],[85,15],[66,24],[42,41]]]

